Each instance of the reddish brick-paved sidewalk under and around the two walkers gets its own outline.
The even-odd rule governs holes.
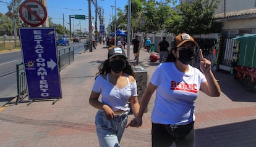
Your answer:
[[[127,50],[127,49],[125,49]],[[56,147],[98,146],[95,132],[95,113],[88,98],[98,65],[106,60],[108,49],[98,44],[93,52],[87,50],[75,62],[61,71],[62,99],[23,100],[19,105],[0,108],[0,146]],[[148,72],[148,78],[158,63],[149,62],[150,53],[140,50],[139,65]],[[132,49],[130,59],[133,59]],[[255,146],[256,92],[244,90],[242,82],[224,71],[214,72],[221,85],[221,97],[211,98],[200,92],[195,103],[196,146]],[[151,146],[150,115],[155,95],[143,115],[140,128],[128,127],[121,146]],[[129,121],[134,116],[129,116]]]

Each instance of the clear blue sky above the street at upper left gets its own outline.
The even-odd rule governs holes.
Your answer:
[[[95,0],[94,0],[95,1]],[[115,2],[116,1],[116,2]],[[1,0],[0,1],[0,12],[6,14],[8,12],[7,5],[4,2],[11,2],[11,0]],[[23,2],[23,1],[22,1]],[[105,28],[111,19],[111,15],[114,15],[114,7],[112,10],[111,6],[119,7],[124,10],[124,6],[128,4],[128,0],[97,0],[98,7],[102,7],[104,10],[103,17],[105,18]],[[81,9],[81,10],[79,10]],[[95,17],[95,6],[91,3],[91,13],[92,17]],[[47,0],[47,13],[48,17],[52,18],[52,21],[56,24],[63,25],[63,15],[64,15],[64,26],[69,28],[69,15],[85,15],[88,16],[88,1],[87,0]],[[117,13],[117,11],[116,11]],[[73,19],[73,18],[72,18]],[[73,20],[71,19],[71,24]],[[92,20],[95,24],[95,20]],[[74,19],[75,30],[88,31],[88,19],[78,20]],[[98,20],[98,30],[100,30],[100,21]],[[72,26],[73,30],[73,26]]]

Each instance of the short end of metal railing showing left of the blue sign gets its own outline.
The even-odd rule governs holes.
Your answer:
[[[23,63],[19,63],[16,65],[16,73],[17,73],[17,99],[16,105],[19,103],[20,100],[28,96],[27,91],[27,83],[25,79],[25,72],[24,69],[20,69]]]

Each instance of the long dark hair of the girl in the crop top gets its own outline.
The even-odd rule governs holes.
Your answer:
[[[134,70],[132,70],[132,66],[130,66],[130,63],[128,62],[127,58],[124,58],[124,60],[126,62],[126,66],[124,67],[122,72],[135,77]],[[111,72],[111,69],[109,68],[109,59],[107,59],[105,60],[105,62],[101,63],[98,66],[98,73],[96,73],[96,77],[98,77],[99,75],[110,73],[110,72]]]

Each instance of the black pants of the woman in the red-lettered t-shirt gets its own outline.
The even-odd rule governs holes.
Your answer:
[[[166,129],[166,125],[152,123],[151,135],[152,147],[170,147],[173,145],[173,142],[175,142],[177,147],[195,146],[194,124],[186,136],[173,137]]]

